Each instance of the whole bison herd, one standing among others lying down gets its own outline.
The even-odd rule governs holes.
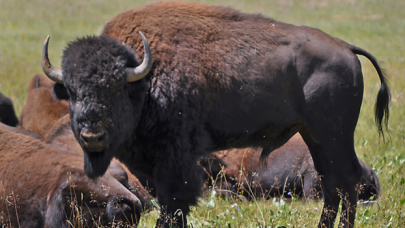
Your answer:
[[[62,70],[48,44],[46,76],[29,82],[19,119],[0,94],[2,226],[136,226],[159,207],[157,227],[183,227],[204,181],[243,200],[323,199],[320,227],[333,227],[340,201],[340,225],[352,227],[357,201],[379,196],[376,173],[354,151],[356,55],[381,80],[382,134],[390,97],[361,48],[187,2],[117,15],[100,36],[69,43]]]

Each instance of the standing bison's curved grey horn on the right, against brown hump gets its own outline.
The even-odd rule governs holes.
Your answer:
[[[126,69],[128,82],[134,82],[142,79],[149,73],[150,69],[152,68],[152,53],[150,51],[148,41],[146,40],[142,32],[139,32],[139,35],[141,35],[143,41],[145,55],[143,56],[143,62],[141,65],[135,68],[128,67]]]

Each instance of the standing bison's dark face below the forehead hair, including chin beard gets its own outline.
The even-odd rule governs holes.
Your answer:
[[[139,116],[139,109],[133,106],[125,86],[111,96],[105,94],[112,92],[108,88],[93,90],[91,93],[97,95],[91,97],[81,93],[83,89],[90,92],[89,87],[77,88],[68,82],[65,85],[70,94],[72,130],[84,151],[86,174],[101,176],[136,128],[133,117]]]

